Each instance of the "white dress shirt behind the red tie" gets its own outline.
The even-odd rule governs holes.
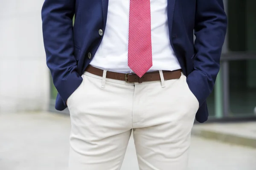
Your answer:
[[[153,66],[149,71],[177,70],[180,64],[169,40],[167,0],[150,0]],[[128,67],[130,0],[109,0],[102,42],[90,65],[119,73],[133,73]]]

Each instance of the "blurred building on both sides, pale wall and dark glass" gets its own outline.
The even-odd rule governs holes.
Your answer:
[[[0,112],[55,111],[57,91],[45,64],[41,32],[43,2],[0,2],[4,23],[0,26]],[[221,71],[207,99],[210,119],[255,117],[256,1],[224,0],[224,4],[229,26]]]

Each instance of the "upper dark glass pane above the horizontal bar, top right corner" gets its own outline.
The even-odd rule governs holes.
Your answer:
[[[256,0],[228,1],[229,51],[256,50]]]

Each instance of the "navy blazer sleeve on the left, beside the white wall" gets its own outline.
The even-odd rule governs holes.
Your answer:
[[[82,82],[74,57],[75,2],[76,0],[45,0],[41,11],[47,66],[65,106],[68,97]]]

